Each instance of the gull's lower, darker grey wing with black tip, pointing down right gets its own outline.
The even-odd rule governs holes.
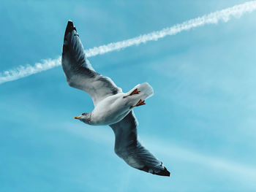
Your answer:
[[[138,122],[133,111],[129,112],[123,120],[110,125],[116,136],[115,153],[129,166],[136,169],[151,174],[170,176],[170,172],[162,162],[138,141],[137,126]]]

